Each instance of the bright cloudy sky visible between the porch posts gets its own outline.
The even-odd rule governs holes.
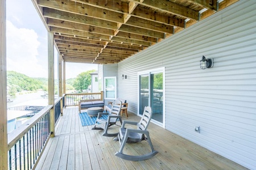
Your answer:
[[[47,29],[31,0],[6,1],[7,71],[32,78],[48,78]],[[66,62],[66,79],[98,70],[97,65]],[[55,51],[55,78],[57,52]]]

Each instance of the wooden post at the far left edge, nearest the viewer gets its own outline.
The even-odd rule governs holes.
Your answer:
[[[8,169],[6,96],[6,0],[0,0],[0,169]]]

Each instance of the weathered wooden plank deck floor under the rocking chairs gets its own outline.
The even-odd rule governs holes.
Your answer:
[[[128,120],[140,117],[129,114]],[[152,123],[148,130],[159,153],[141,162],[123,160],[114,155],[119,142],[102,137],[102,130],[91,129],[81,125],[77,107],[64,109],[56,136],[49,140],[36,169],[246,169]],[[112,130],[118,131],[118,126]],[[138,155],[149,150],[143,141],[127,144],[124,152]]]

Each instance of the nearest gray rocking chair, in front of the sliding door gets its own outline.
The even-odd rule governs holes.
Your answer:
[[[158,153],[158,151],[154,150],[149,133],[147,131],[147,127],[150,123],[151,117],[152,117],[151,108],[145,107],[141,121],[139,122],[123,121],[122,127],[119,130],[118,137],[114,138],[114,141],[119,141],[120,143],[120,149],[118,152],[115,153],[115,156],[118,156],[119,158],[126,159],[126,160],[140,161],[140,160],[146,160],[146,159],[152,158],[154,155]],[[126,129],[125,128],[126,124],[137,125],[137,129]],[[141,156],[123,154],[123,148],[125,148],[126,142],[134,143],[134,142],[141,142],[143,140],[147,141],[148,144],[150,145],[152,150],[150,153],[141,155]]]

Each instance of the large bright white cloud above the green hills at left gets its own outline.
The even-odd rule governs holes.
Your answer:
[[[47,77],[47,70],[38,63],[39,45],[33,29],[17,28],[6,21],[7,70],[30,77]]]

